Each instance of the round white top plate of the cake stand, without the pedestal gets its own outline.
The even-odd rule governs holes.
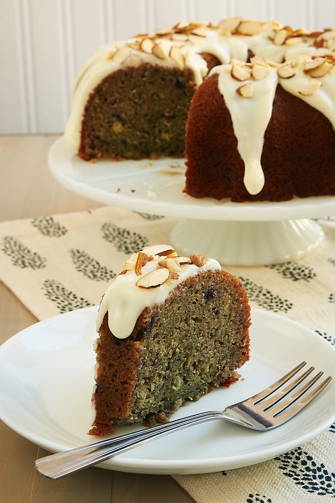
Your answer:
[[[157,215],[202,220],[271,221],[335,214],[335,197],[310,197],[281,203],[232,203],[196,199],[183,193],[185,159],[85,162],[59,138],[49,151],[53,176],[88,199]]]

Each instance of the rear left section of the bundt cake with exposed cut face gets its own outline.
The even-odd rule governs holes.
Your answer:
[[[181,156],[191,98],[213,66],[255,54],[280,63],[334,48],[334,30],[243,18],[178,23],[106,45],[76,77],[65,140],[85,160]]]

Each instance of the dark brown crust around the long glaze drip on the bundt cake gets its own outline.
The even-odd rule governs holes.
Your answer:
[[[187,194],[236,202],[335,195],[335,131],[324,115],[280,85],[264,137],[261,164],[265,185],[259,194],[249,194],[243,184],[244,163],[232,119],[217,79],[214,74],[202,83],[190,107]]]

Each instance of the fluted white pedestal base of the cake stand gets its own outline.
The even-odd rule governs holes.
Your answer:
[[[222,265],[265,266],[300,259],[323,238],[309,219],[278,221],[181,220],[171,231],[175,248],[200,253]]]

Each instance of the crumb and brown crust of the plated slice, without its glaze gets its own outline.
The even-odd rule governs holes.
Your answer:
[[[97,342],[91,435],[115,426],[167,421],[187,399],[237,379],[249,359],[250,307],[239,281],[200,272],[161,305],[146,308],[127,339],[111,334],[107,315]]]

